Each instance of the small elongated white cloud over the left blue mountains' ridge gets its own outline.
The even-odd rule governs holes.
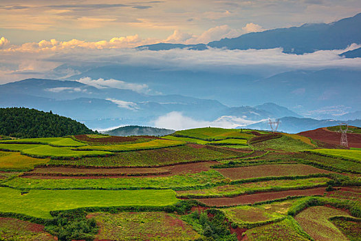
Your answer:
[[[124,81],[118,81],[113,78],[105,80],[104,78],[91,79],[89,77],[85,77],[85,78],[80,78],[75,81],[78,81],[85,85],[94,86],[98,89],[111,87],[111,88],[117,88],[117,89],[123,89],[123,90],[133,90],[135,92],[141,92],[141,93],[148,93],[151,91],[149,89],[148,85],[146,85],[146,84],[127,83]]]

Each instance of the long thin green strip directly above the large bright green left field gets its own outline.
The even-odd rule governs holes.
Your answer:
[[[157,178],[33,179],[15,178],[4,184],[15,189],[186,189],[217,185],[225,180],[218,171]]]

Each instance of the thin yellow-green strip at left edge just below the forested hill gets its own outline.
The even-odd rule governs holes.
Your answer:
[[[25,138],[17,140],[0,140],[0,143],[34,143],[34,144],[43,144],[43,145],[53,145],[56,147],[82,147],[84,143],[80,143],[72,138],[64,137],[50,137],[50,138]]]

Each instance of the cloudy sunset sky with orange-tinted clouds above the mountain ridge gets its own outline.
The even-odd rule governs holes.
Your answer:
[[[247,32],[330,23],[361,12],[359,0],[1,0],[0,48],[43,40],[91,48],[208,43]],[[72,41],[76,39],[76,41]],[[116,47],[115,47],[116,46]]]

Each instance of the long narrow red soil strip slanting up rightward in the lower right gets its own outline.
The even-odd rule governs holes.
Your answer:
[[[254,204],[255,202],[263,202],[278,198],[286,198],[287,196],[314,196],[325,193],[325,187],[302,190],[272,191],[255,194],[245,194],[234,198],[201,198],[197,199],[210,207],[234,206]]]

